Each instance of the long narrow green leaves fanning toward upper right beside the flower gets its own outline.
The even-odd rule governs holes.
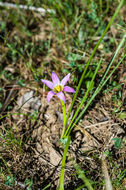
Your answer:
[[[80,86],[81,86],[82,81],[83,81],[83,79],[84,79],[85,73],[86,73],[86,71],[87,71],[87,69],[88,69],[88,66],[89,66],[89,64],[90,64],[90,62],[91,62],[91,60],[92,60],[92,58],[93,58],[93,56],[94,56],[94,54],[95,54],[95,52],[96,52],[98,46],[99,46],[99,44],[101,43],[101,41],[102,41],[104,35],[106,34],[107,30],[109,29],[109,27],[111,26],[111,24],[112,24],[112,22],[114,21],[115,17],[117,16],[118,11],[120,10],[122,4],[123,4],[123,0],[120,2],[118,8],[116,9],[116,11],[115,11],[113,17],[111,18],[110,22],[108,23],[107,27],[105,28],[105,30],[104,30],[104,32],[103,32],[101,38],[99,39],[98,43],[96,44],[96,46],[95,46],[95,48],[94,48],[94,50],[93,50],[93,52],[92,52],[92,54],[91,54],[91,56],[90,56],[90,58],[89,58],[87,64],[86,64],[86,67],[85,67],[85,69],[84,69],[84,71],[83,71],[83,74],[82,74],[82,76],[81,76],[80,82],[79,82],[79,84],[78,84],[76,93],[75,93],[75,95],[74,95],[74,98],[73,98],[71,107],[70,107],[70,109],[69,109],[67,118],[66,118],[66,120],[65,120],[65,124],[67,124],[68,118],[69,118],[69,116],[70,116],[72,107],[73,107],[74,102],[75,102],[75,100],[76,100],[77,94],[78,94],[78,92],[79,92]],[[116,67],[111,71],[111,73],[108,75],[108,77],[105,78],[106,75],[108,74],[109,70],[110,70],[110,67],[111,67],[113,61],[115,60],[116,55],[118,54],[120,48],[122,47],[122,45],[123,45],[124,42],[125,42],[125,38],[126,38],[126,34],[124,35],[124,37],[122,38],[122,41],[120,42],[119,46],[117,47],[117,50],[116,50],[116,52],[115,52],[115,55],[114,55],[112,61],[110,62],[110,64],[108,65],[108,67],[107,67],[107,69],[106,69],[106,71],[105,71],[105,73],[104,73],[104,75],[103,75],[103,77],[102,77],[102,79],[101,79],[101,81],[100,81],[98,87],[96,88],[94,94],[92,95],[92,97],[90,98],[90,100],[88,101],[88,103],[86,104],[85,108],[81,111],[81,113],[79,114],[79,116],[77,117],[77,119],[75,120],[75,118],[76,118],[76,116],[77,116],[79,110],[81,109],[83,103],[85,102],[85,100],[86,100],[86,98],[87,98],[87,95],[88,95],[89,91],[91,90],[92,82],[94,81],[95,75],[97,74],[97,71],[98,71],[99,66],[100,66],[100,64],[101,64],[101,62],[99,62],[98,66],[97,66],[97,68],[96,68],[96,70],[95,70],[94,76],[93,76],[93,78],[92,78],[92,82],[90,83],[89,89],[87,90],[86,95],[83,97],[80,106],[78,107],[77,111],[75,112],[75,114],[74,114],[74,116],[73,116],[73,118],[72,118],[72,120],[71,120],[71,122],[70,122],[70,124],[69,124],[69,126],[68,126],[68,128],[67,128],[67,130],[66,130],[66,132],[65,132],[64,138],[65,138],[65,137],[68,137],[68,136],[70,135],[70,133],[71,133],[73,127],[74,127],[75,124],[80,120],[80,118],[82,117],[82,115],[85,113],[85,111],[87,110],[87,108],[88,108],[88,106],[90,105],[90,103],[94,100],[95,96],[101,91],[102,87],[106,84],[106,82],[108,81],[108,79],[110,78],[110,76],[113,74],[113,72],[116,70],[116,68],[118,68],[118,66],[120,65],[120,63],[124,60],[126,54],[123,55],[121,61],[120,61],[120,62],[116,65]],[[74,120],[75,120],[75,121],[74,121]],[[62,173],[62,176],[63,176],[63,173]],[[63,179],[63,177],[62,177],[62,179]],[[63,183],[63,181],[62,181],[62,183]],[[60,190],[63,190],[63,189],[64,189],[63,184],[61,184]]]

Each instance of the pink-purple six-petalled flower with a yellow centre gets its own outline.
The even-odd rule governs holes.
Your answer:
[[[59,77],[56,75],[56,73],[52,72],[52,82],[41,79],[41,81],[51,89],[51,91],[49,91],[47,95],[48,102],[54,95],[56,95],[60,100],[65,103],[65,96],[63,92],[75,93],[75,90],[73,88],[65,86],[69,78],[70,73],[66,75],[60,82]]]

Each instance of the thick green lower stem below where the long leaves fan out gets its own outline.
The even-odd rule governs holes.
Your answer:
[[[60,174],[60,187],[59,190],[64,190],[64,172],[65,172],[65,163],[66,163],[66,155],[70,144],[70,136],[67,138],[67,143],[64,149],[62,164],[61,164],[61,174]]]

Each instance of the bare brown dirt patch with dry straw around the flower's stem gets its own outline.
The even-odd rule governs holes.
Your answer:
[[[26,176],[33,179],[33,189],[44,188],[48,184],[51,184],[48,189],[56,189],[59,185],[63,155],[63,148],[59,141],[63,127],[62,109],[56,97],[48,103],[46,95],[47,92],[36,95],[34,90],[19,90],[13,112],[23,114],[10,115],[2,120],[2,124],[6,123],[8,127],[13,124],[14,134],[25,142],[20,154],[18,147],[15,155],[13,152],[4,150],[5,155],[8,154],[8,166],[11,166],[12,173],[16,173],[16,189],[26,188],[23,183]],[[72,97],[67,95],[67,111],[71,101]],[[125,167],[126,150],[117,150],[113,138],[120,137],[122,141],[125,140],[126,121],[117,120],[112,116],[110,104],[111,93],[97,98],[85,117],[74,128],[66,163],[66,189],[81,185],[81,180],[78,180],[75,175],[75,162],[84,170],[90,169],[91,173],[94,173],[92,180],[102,181],[99,175],[102,173],[101,156],[106,150],[112,152],[113,158],[120,166],[119,170]],[[35,111],[37,116],[34,119]],[[28,119],[29,117],[31,119]],[[112,170],[111,164],[109,169]],[[114,179],[115,174],[113,173],[111,177]]]

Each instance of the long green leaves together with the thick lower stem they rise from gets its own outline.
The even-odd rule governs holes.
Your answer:
[[[123,4],[123,0],[120,2],[119,6],[117,7],[117,9],[116,9],[116,11],[115,11],[113,17],[112,17],[111,20],[109,21],[107,27],[105,28],[105,30],[104,30],[102,36],[100,37],[99,41],[97,42],[97,44],[96,44],[96,46],[95,46],[95,48],[94,48],[94,50],[93,50],[93,52],[92,52],[92,54],[91,54],[89,60],[88,60],[88,62],[87,62],[87,64],[86,64],[86,66],[85,66],[85,69],[84,69],[84,71],[83,71],[83,73],[82,73],[80,82],[79,82],[79,84],[78,84],[78,87],[77,87],[76,93],[75,93],[75,95],[74,95],[74,98],[73,98],[73,101],[72,101],[72,104],[71,104],[71,107],[70,107],[70,109],[69,109],[69,112],[68,112],[67,117],[66,117],[66,113],[64,112],[64,115],[63,115],[63,116],[64,116],[64,127],[65,127],[66,124],[67,124],[67,121],[68,121],[68,118],[69,118],[69,116],[70,116],[70,113],[71,113],[73,104],[74,104],[74,102],[75,102],[75,100],[76,100],[77,94],[78,94],[78,92],[79,92],[79,90],[80,90],[82,81],[84,80],[84,77],[85,77],[85,74],[86,74],[87,69],[88,69],[88,67],[89,67],[89,64],[90,64],[90,62],[91,62],[91,60],[92,60],[92,58],[93,58],[93,56],[94,56],[94,54],[95,54],[95,52],[96,52],[98,46],[100,45],[100,43],[101,43],[101,41],[102,41],[104,35],[106,34],[106,32],[108,31],[108,29],[109,29],[109,27],[111,26],[112,22],[114,21],[115,17],[117,16],[118,11],[120,10],[122,4]],[[96,74],[97,74],[97,72],[98,72],[98,70],[99,70],[99,67],[100,67],[102,61],[100,60],[100,61],[98,62],[97,67],[96,67],[96,69],[95,69],[95,72],[94,72],[94,74],[93,74],[93,76],[92,76],[92,80],[91,80],[91,82],[90,82],[89,85],[88,85],[87,92],[85,93],[85,95],[84,95],[84,97],[83,97],[83,99],[82,99],[82,101],[81,101],[81,103],[80,103],[80,105],[79,105],[77,111],[75,112],[75,114],[74,114],[74,116],[73,116],[73,118],[72,118],[72,120],[71,120],[71,122],[70,122],[68,128],[66,129],[65,133],[63,133],[63,135],[62,135],[63,138],[68,138],[69,140],[67,140],[67,143],[66,143],[66,146],[65,146],[65,149],[64,149],[63,159],[62,159],[61,176],[60,176],[60,187],[59,187],[60,190],[63,190],[63,189],[64,189],[64,171],[65,171],[65,168],[64,168],[64,167],[65,167],[66,154],[67,154],[68,147],[69,147],[69,143],[70,143],[70,136],[69,136],[69,135],[70,135],[70,133],[71,133],[73,127],[75,127],[76,123],[80,120],[80,118],[82,117],[82,115],[83,115],[83,114],[85,113],[85,111],[88,109],[89,105],[90,105],[91,102],[94,100],[94,98],[96,97],[96,95],[101,91],[101,89],[102,89],[103,86],[106,84],[106,82],[109,80],[109,78],[111,77],[111,75],[112,75],[112,74],[114,73],[114,71],[118,68],[118,66],[120,65],[120,63],[122,63],[122,61],[124,60],[126,54],[123,55],[122,59],[118,62],[118,64],[114,67],[114,69],[109,73],[110,68],[111,68],[111,66],[112,66],[112,64],[113,64],[113,62],[114,62],[114,60],[115,60],[115,58],[116,58],[116,56],[117,56],[119,50],[121,49],[122,45],[123,45],[124,42],[125,42],[125,37],[126,37],[126,34],[124,35],[124,37],[122,38],[120,44],[118,45],[118,47],[117,47],[117,49],[116,49],[116,52],[115,52],[115,55],[114,55],[114,57],[112,58],[111,62],[109,63],[109,65],[108,65],[108,67],[107,67],[105,73],[103,74],[103,76],[102,76],[102,78],[101,78],[101,81],[100,81],[98,87],[96,88],[96,90],[95,90],[94,93],[92,94],[91,98],[88,100],[88,102],[87,102],[85,108],[84,108],[84,109],[80,112],[80,114],[78,115],[79,111],[81,110],[81,107],[83,106],[84,102],[87,100],[87,96],[88,96],[89,92],[90,92],[91,89],[92,89],[92,86],[93,86],[93,83],[94,83],[94,79],[95,79],[95,77],[96,77]],[[76,57],[75,57],[75,59],[76,59]],[[109,73],[109,74],[108,74],[108,73]],[[108,74],[108,76],[107,76],[107,74]],[[43,82],[44,82],[44,81],[43,81]],[[49,83],[49,82],[48,82],[48,83]],[[47,85],[47,81],[45,81],[45,84]],[[48,84],[48,86],[51,88],[51,84],[50,84],[50,83]],[[55,88],[54,88],[54,89],[55,89]],[[59,92],[59,91],[58,91],[58,92]],[[52,96],[51,96],[51,97],[52,97]],[[60,98],[61,98],[61,97],[60,97]],[[61,99],[62,99],[62,98],[61,98]],[[50,99],[49,99],[49,100],[50,100]],[[62,100],[63,100],[63,99],[62,99]],[[64,100],[63,100],[63,101],[64,101]],[[78,116],[77,116],[77,115],[78,115]],[[77,118],[76,118],[76,117],[77,117]],[[76,118],[76,119],[75,119],[75,118]],[[84,174],[83,174],[83,177],[84,177]],[[93,188],[90,187],[90,189],[93,189]]]

